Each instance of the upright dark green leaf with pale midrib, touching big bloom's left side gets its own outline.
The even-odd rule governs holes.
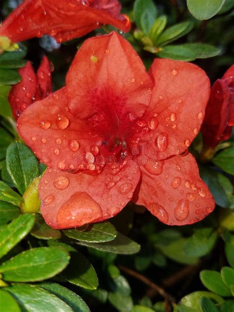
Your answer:
[[[12,143],[6,152],[6,167],[20,194],[39,176],[39,164],[33,152],[22,143]]]

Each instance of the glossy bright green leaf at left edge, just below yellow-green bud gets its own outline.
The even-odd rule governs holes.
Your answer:
[[[33,228],[35,216],[25,213],[8,225],[0,228],[0,258],[7,254]]]

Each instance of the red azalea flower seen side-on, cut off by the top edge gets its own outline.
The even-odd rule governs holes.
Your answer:
[[[117,0],[24,0],[3,22],[0,36],[12,42],[49,35],[58,42],[82,37],[110,24],[128,32]]]

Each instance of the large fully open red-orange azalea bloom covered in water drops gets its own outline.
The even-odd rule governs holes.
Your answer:
[[[187,149],[209,92],[193,64],[156,59],[148,75],[117,33],[86,40],[66,87],[18,119],[22,138],[50,167],[39,185],[47,224],[102,221],[130,200],[168,225],[204,218],[214,200]]]

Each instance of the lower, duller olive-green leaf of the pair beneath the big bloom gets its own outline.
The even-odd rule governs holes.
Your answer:
[[[78,241],[77,244],[102,251],[108,251],[123,255],[135,254],[140,250],[140,245],[138,245],[136,242],[120,233],[118,233],[116,238],[112,241],[104,243],[88,243]]]

